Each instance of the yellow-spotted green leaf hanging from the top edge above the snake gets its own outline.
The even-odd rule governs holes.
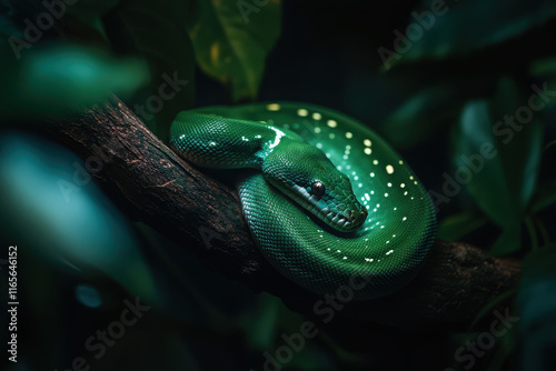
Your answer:
[[[209,76],[231,88],[234,101],[255,99],[265,59],[280,33],[278,0],[199,2],[189,28],[197,61]]]

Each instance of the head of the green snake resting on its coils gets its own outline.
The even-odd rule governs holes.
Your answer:
[[[266,179],[282,193],[340,232],[351,232],[367,218],[349,178],[326,154],[307,143],[284,142],[262,164]]]

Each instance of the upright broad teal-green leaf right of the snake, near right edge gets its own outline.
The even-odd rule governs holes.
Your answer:
[[[519,241],[520,221],[537,181],[543,128],[533,113],[520,119],[523,112],[533,112],[520,106],[527,102],[512,80],[502,79],[494,100],[464,108],[455,134],[454,176],[503,228],[497,253],[518,247],[510,242]]]

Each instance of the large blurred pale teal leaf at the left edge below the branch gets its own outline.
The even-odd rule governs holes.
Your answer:
[[[95,184],[86,161],[59,144],[0,137],[2,228],[41,259],[95,277],[102,272],[156,301],[149,267],[123,215]]]

